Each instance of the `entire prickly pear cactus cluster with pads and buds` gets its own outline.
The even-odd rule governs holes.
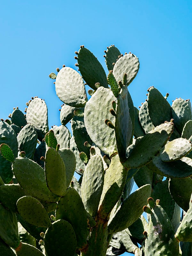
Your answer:
[[[171,106],[151,86],[138,109],[134,54],[107,47],[107,76],[84,45],[75,53],[79,72],[49,75],[60,126],[38,97],[0,121],[0,255],[191,255],[190,100]]]

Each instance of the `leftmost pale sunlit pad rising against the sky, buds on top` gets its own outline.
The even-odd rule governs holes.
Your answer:
[[[33,124],[37,130],[38,140],[42,141],[49,131],[47,105],[44,100],[34,98],[28,106],[26,119],[28,124]]]

